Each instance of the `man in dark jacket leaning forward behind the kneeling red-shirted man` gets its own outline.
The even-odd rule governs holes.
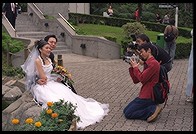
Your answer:
[[[132,44],[129,48],[127,48],[127,53],[129,53],[132,49],[134,50],[134,53],[136,55],[139,55],[140,52],[138,51],[137,47],[148,42],[150,42],[150,39],[146,34],[137,35],[136,43]],[[152,55],[160,63],[160,65],[164,66],[167,69],[167,72],[169,72],[172,69],[172,58],[163,48],[152,43],[151,45],[152,45]],[[143,64],[141,60],[140,60],[140,64]]]

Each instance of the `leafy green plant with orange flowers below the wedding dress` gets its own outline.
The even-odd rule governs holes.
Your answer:
[[[51,113],[47,110],[51,109]],[[32,123],[15,124],[14,130],[16,131],[67,131],[69,130],[72,121],[80,121],[80,118],[75,115],[76,106],[70,102],[60,100],[54,102],[53,105],[42,110],[40,116]],[[57,114],[53,116],[52,114]],[[38,127],[35,123],[40,122]]]

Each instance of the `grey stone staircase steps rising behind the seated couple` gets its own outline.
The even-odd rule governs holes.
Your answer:
[[[53,34],[52,32],[41,31],[39,27],[37,27],[33,22],[31,22],[27,12],[22,12],[21,14],[18,14],[16,19],[16,31],[18,37],[32,38],[38,40],[43,39],[49,34]],[[71,50],[68,49],[65,42],[58,39],[57,47],[55,50],[53,50],[53,53],[55,55],[65,54],[71,53]]]

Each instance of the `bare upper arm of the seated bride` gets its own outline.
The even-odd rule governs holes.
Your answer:
[[[42,63],[41,63],[40,59],[35,60],[35,65],[36,65],[36,69],[37,69],[38,74],[39,74],[39,78],[46,81],[47,77],[46,77],[46,74],[45,74],[45,72],[42,68]]]

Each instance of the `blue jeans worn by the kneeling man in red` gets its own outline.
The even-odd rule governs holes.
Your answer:
[[[123,110],[127,119],[147,120],[156,109],[156,104],[151,99],[135,98]]]

